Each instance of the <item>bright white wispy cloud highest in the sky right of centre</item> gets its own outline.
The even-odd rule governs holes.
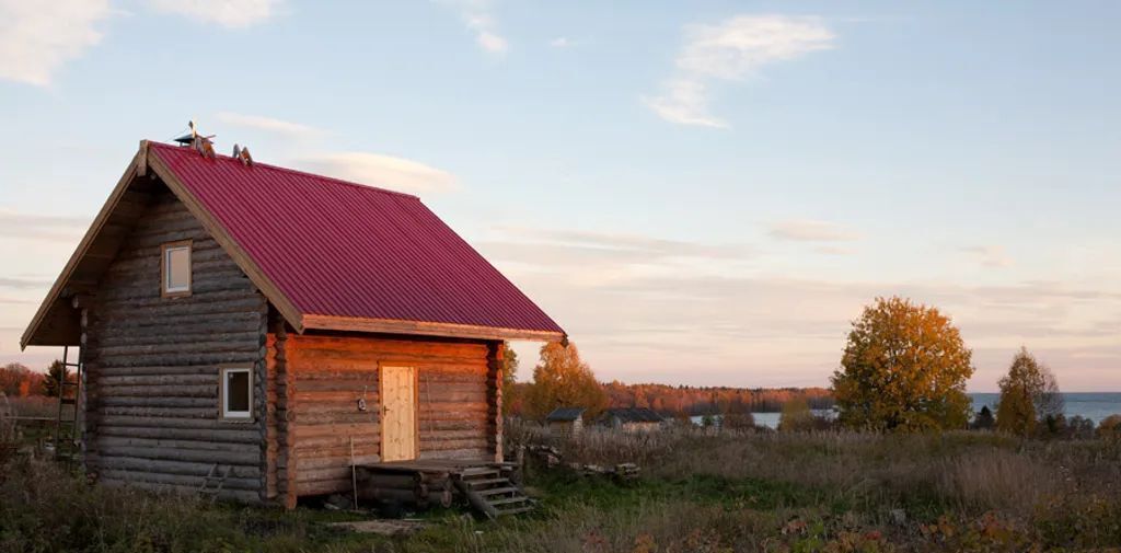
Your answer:
[[[833,39],[816,17],[736,16],[716,25],[691,25],[674,76],[663,83],[660,94],[642,101],[670,122],[728,127],[710,113],[712,82],[740,81],[766,65],[833,48]]]

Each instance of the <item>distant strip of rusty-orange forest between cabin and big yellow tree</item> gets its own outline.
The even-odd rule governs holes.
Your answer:
[[[515,385],[511,413],[521,409],[527,383]],[[778,413],[795,397],[805,397],[813,409],[833,407],[833,394],[825,388],[732,388],[668,386],[665,384],[603,383],[609,407],[649,407],[667,415],[715,415],[722,413]]]

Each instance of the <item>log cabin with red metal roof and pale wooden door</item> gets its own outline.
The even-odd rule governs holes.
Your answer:
[[[99,481],[290,508],[501,462],[508,340],[565,334],[417,197],[145,140],[21,347],[80,347]]]

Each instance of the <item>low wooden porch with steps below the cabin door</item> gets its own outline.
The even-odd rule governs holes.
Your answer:
[[[355,464],[360,499],[417,508],[464,499],[488,518],[532,510],[517,463],[425,459]]]

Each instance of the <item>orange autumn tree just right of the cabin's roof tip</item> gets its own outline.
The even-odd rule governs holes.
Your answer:
[[[541,360],[534,368],[522,406],[536,420],[557,407],[584,407],[584,417],[592,418],[608,406],[608,396],[592,368],[580,359],[576,344],[550,342],[541,347]]]

